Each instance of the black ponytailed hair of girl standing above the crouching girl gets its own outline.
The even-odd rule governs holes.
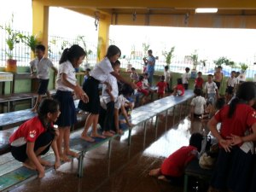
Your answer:
[[[86,56],[84,49],[78,44],[73,44],[70,48],[63,50],[59,64],[67,60],[71,62],[75,59],[79,60],[81,56]]]

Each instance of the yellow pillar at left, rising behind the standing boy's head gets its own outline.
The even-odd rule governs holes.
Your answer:
[[[40,1],[32,1],[32,33],[48,47],[49,7]],[[45,51],[47,55],[48,51]]]

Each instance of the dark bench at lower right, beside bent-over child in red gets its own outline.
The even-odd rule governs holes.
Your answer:
[[[212,177],[212,170],[202,169],[199,166],[199,160],[195,159],[189,162],[188,166],[185,169],[185,176],[184,176],[184,192],[188,192],[188,183],[189,177],[197,177],[207,181],[210,181]]]

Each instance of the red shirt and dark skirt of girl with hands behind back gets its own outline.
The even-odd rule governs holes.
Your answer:
[[[256,123],[256,111],[244,103],[236,105],[232,118],[227,118],[230,106],[221,108],[214,118],[221,122],[220,135],[223,138],[231,134],[243,137],[250,132],[250,127]],[[234,192],[248,191],[252,179],[253,143],[241,143],[225,152],[219,146],[218,160],[212,175],[211,185],[215,189],[230,189]]]

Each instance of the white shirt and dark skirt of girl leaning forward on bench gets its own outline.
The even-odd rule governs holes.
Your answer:
[[[101,62],[97,63],[90,73],[90,77],[84,82],[83,90],[89,97],[89,102],[84,103],[79,101],[79,108],[89,113],[100,113],[101,102],[99,96],[99,84],[104,83],[108,79],[108,73],[113,72],[108,57],[105,57]]]

